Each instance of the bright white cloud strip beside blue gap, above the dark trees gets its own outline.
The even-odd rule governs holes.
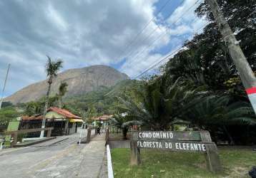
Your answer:
[[[134,55],[128,58],[121,70],[132,77],[137,76],[143,69],[149,68],[152,63],[165,57],[166,53],[162,53],[162,48],[169,48],[167,53],[175,51],[177,46],[182,46],[182,43],[191,39],[195,33],[201,33],[207,21],[204,17],[200,19],[195,15],[195,9],[202,1],[198,1],[197,4],[195,2],[195,0],[185,0],[167,18],[159,14],[160,20],[166,20],[161,23],[164,26],[162,26],[163,30],[159,32],[162,35],[160,35],[158,43],[147,48],[144,53],[139,53],[139,56]],[[142,50],[139,48],[138,51]]]

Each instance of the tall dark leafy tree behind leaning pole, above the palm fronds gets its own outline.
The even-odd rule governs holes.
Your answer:
[[[218,4],[240,41],[252,70],[256,71],[255,1],[218,0]],[[242,83],[232,87],[226,85],[231,78],[237,78],[238,73],[217,25],[212,22],[209,6],[206,3],[201,4],[196,13],[198,16],[207,15],[211,23],[205,27],[203,33],[184,43],[184,50],[179,51],[163,68],[164,74],[172,80],[182,77],[195,85],[207,85],[215,93],[227,90],[235,95],[245,95],[241,90]]]

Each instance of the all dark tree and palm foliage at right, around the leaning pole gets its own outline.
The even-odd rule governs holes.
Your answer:
[[[217,2],[256,73],[256,1]],[[200,98],[200,103],[192,108],[184,109],[179,120],[190,122],[188,126],[193,129],[210,130],[215,141],[228,137],[230,142],[234,142],[235,135],[235,142],[241,142],[237,133],[242,137],[248,137],[249,133],[255,135],[255,112],[218,26],[213,21],[210,7],[204,2],[195,12],[200,17],[206,15],[210,23],[202,33],[186,41],[183,50],[162,66],[162,75],[158,78],[164,80],[165,87],[173,85],[177,78],[180,78],[182,85],[205,86],[207,97]],[[256,140],[251,139],[247,144],[252,142]]]

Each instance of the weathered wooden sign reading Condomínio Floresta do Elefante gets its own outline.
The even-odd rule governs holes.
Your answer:
[[[144,131],[133,135],[131,147],[131,164],[140,164],[140,149],[160,149],[177,152],[205,153],[207,167],[211,172],[221,172],[222,167],[217,153],[217,146],[207,131],[165,132]]]

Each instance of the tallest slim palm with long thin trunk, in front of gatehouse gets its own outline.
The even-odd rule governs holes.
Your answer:
[[[49,95],[51,92],[52,80],[54,77],[56,77],[60,68],[62,68],[62,63],[63,63],[63,61],[61,61],[61,60],[51,61],[51,58],[49,56],[47,56],[47,58],[48,58],[48,61],[46,63],[46,74],[47,74],[47,78],[48,78],[48,90],[46,93],[46,100],[45,100],[45,105],[44,105],[44,116],[43,116],[43,121],[41,123],[41,128],[45,127],[45,121],[46,121],[45,115],[46,115],[46,112],[48,109]],[[44,130],[41,131],[40,137],[44,137]]]

